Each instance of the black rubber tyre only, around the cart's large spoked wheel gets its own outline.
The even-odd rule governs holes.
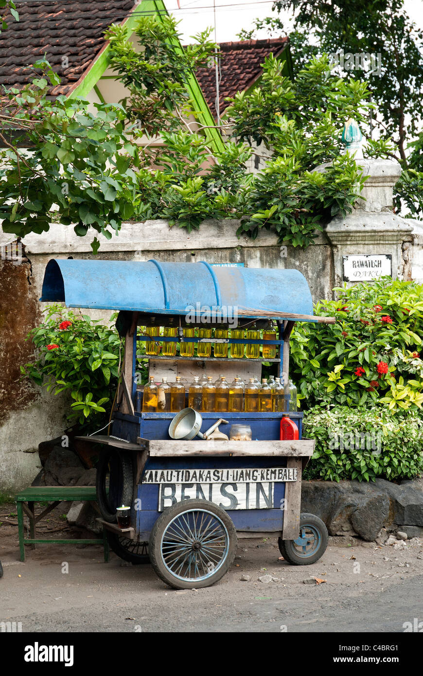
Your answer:
[[[166,568],[162,558],[161,558],[161,538],[163,537],[168,525],[170,522],[183,512],[189,510],[198,510],[211,512],[214,516],[217,516],[228,533],[228,552],[226,558],[218,567],[218,570],[214,575],[207,577],[203,580],[184,580],[178,579],[172,575],[172,573]],[[232,523],[232,519],[224,510],[218,507],[214,502],[209,502],[208,500],[184,500],[183,502],[177,502],[176,504],[168,507],[164,510],[163,514],[157,518],[153,526],[153,530],[150,534],[149,540],[149,556],[151,565],[157,573],[158,577],[166,582],[169,587],[173,589],[200,589],[201,587],[210,587],[214,583],[218,582],[225,573],[228,572],[228,569],[232,565],[232,562],[235,558],[237,552],[237,531]]]

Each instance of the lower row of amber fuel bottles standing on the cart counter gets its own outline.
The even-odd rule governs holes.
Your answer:
[[[226,378],[221,376],[213,383],[211,376],[203,376],[202,382],[195,376],[194,382],[188,389],[188,406],[202,412],[266,412],[287,410],[289,395],[290,411],[297,410],[297,388],[293,381],[289,381],[287,387],[283,387],[280,379],[270,381],[263,379],[260,385],[255,378],[250,378],[245,383],[237,377],[230,385]],[[176,382],[169,385],[167,378],[157,387],[154,377],[150,376],[148,385],[144,387],[143,412],[172,412],[176,413],[185,408],[185,387],[180,382],[180,376],[176,376]]]

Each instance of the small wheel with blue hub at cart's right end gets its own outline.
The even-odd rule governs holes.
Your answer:
[[[283,558],[297,566],[308,566],[323,556],[328,546],[328,529],[314,514],[300,514],[299,537],[296,540],[278,539]]]

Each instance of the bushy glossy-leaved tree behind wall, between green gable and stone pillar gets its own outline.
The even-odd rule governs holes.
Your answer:
[[[141,51],[128,46],[122,26],[111,26],[107,37],[112,65],[130,91],[122,101],[128,120],[139,135],[151,139],[138,174],[141,218],[168,218],[191,231],[204,218],[232,216],[243,220],[239,234],[257,237],[264,227],[276,231],[280,241],[305,246],[325,218],[351,210],[360,172],[351,158],[339,158],[337,138],[350,114],[358,111],[362,119],[362,109],[369,105],[365,83],[341,80],[330,74],[327,59],[314,59],[293,84],[270,56],[253,93],[232,100],[226,126],[237,142],[214,151],[216,164],[207,169],[211,153],[196,133],[201,124],[186,95],[186,81],[214,55],[214,43],[206,31],[180,57],[172,47],[178,43],[173,18],[163,24],[144,18],[135,32]],[[196,122],[186,122],[190,118]],[[155,143],[159,132],[164,145]],[[272,147],[275,159],[251,176],[245,171],[250,147],[262,141]],[[312,172],[334,158],[327,174]]]

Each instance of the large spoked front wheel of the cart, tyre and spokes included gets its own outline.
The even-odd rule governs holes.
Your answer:
[[[174,589],[214,585],[228,571],[236,551],[232,520],[208,500],[184,500],[166,509],[149,541],[153,569]]]

